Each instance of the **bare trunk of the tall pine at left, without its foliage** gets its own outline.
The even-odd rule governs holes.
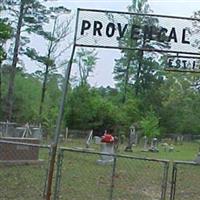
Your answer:
[[[10,69],[10,78],[9,78],[9,83],[8,83],[8,94],[7,94],[7,101],[6,101],[6,106],[7,106],[6,120],[9,120],[9,121],[12,118],[12,111],[13,111],[14,80],[15,80],[15,74],[16,74],[16,66],[18,62],[20,34],[21,34],[23,15],[24,15],[24,2],[22,1],[20,5],[19,19],[17,23],[14,55],[13,55],[13,60],[12,60],[12,66]]]

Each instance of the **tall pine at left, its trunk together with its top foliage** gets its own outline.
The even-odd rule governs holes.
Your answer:
[[[11,120],[13,109],[14,80],[20,51],[29,42],[27,37],[22,36],[22,32],[40,34],[42,25],[48,23],[50,12],[39,0],[4,0],[5,9],[10,14],[10,19],[15,31],[14,49],[10,68],[10,78],[7,93],[6,118]],[[17,24],[16,24],[17,21]],[[23,44],[23,45],[22,45]]]

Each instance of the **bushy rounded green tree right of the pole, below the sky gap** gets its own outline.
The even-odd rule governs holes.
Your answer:
[[[103,130],[117,123],[118,111],[98,90],[79,85],[70,93],[65,119],[69,128]]]

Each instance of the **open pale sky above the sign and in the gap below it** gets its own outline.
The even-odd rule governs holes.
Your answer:
[[[131,2],[131,0],[49,0],[48,4],[64,5],[75,13],[77,8],[127,11],[127,6],[131,5]],[[200,10],[200,0],[149,0],[148,3],[153,13],[162,15],[190,17],[194,11]],[[66,56],[69,57],[69,54],[70,52],[66,53]],[[113,87],[114,59],[119,56],[119,50],[98,50],[99,59],[89,82],[94,86]],[[77,73],[76,67],[73,65],[73,75]]]

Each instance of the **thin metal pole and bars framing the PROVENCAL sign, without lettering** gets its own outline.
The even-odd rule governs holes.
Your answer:
[[[147,48],[123,48],[123,47],[111,47],[111,46],[98,46],[98,45],[79,45],[77,44],[77,30],[78,30],[78,19],[79,19],[79,13],[81,11],[88,11],[88,12],[104,12],[104,13],[118,13],[118,14],[128,14],[128,15],[136,15],[136,16],[152,16],[152,17],[163,17],[163,18],[171,18],[171,19],[183,19],[183,20],[196,20],[200,21],[200,19],[193,19],[193,18],[188,18],[188,17],[177,17],[177,16],[167,16],[167,15],[156,15],[156,14],[141,14],[141,13],[130,13],[130,12],[118,12],[118,11],[105,11],[105,10],[94,10],[94,9],[77,9],[77,17],[76,17],[76,24],[75,24],[75,34],[74,34],[74,41],[73,41],[73,46],[72,46],[72,52],[71,56],[69,58],[68,66],[65,72],[65,79],[63,83],[63,89],[62,89],[62,97],[60,101],[60,108],[59,108],[59,113],[58,113],[58,118],[56,122],[56,129],[54,133],[54,141],[51,144],[51,159],[50,159],[50,165],[49,165],[49,170],[48,170],[48,178],[47,178],[47,195],[46,195],[46,200],[51,199],[51,190],[52,190],[52,180],[53,180],[53,175],[54,175],[54,167],[56,163],[56,155],[57,155],[57,146],[58,146],[58,141],[59,141],[59,134],[60,134],[60,129],[61,129],[61,123],[63,119],[63,114],[64,114],[64,106],[65,106],[65,100],[68,95],[68,85],[69,85],[69,78],[70,78],[70,73],[71,73],[71,68],[72,68],[72,63],[73,63],[73,57],[75,54],[76,47],[94,47],[94,48],[107,48],[107,49],[126,49],[126,50],[141,50],[141,51],[151,51],[151,52],[158,52],[158,53],[174,53],[174,54],[189,54],[189,55],[197,55],[200,56],[200,54],[195,53],[195,52],[182,52],[182,51],[172,51],[172,50],[159,50],[159,49],[147,49]]]

